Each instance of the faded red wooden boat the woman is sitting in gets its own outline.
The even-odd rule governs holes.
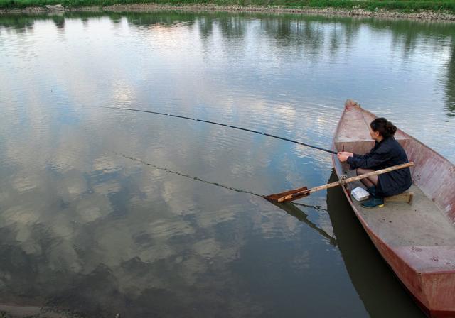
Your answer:
[[[375,117],[346,102],[333,150],[367,153],[374,145],[368,127]],[[403,131],[397,130],[395,138],[415,163],[408,190],[414,192],[412,202],[365,209],[350,197],[360,182],[343,186],[343,191],[382,258],[427,316],[455,317],[455,166]],[[336,155],[332,158],[338,177],[354,175]]]

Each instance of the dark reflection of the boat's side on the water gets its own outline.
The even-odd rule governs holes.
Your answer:
[[[338,180],[333,169],[328,182]],[[283,204],[282,204],[283,205]],[[327,189],[327,213],[336,246],[346,265],[350,282],[370,317],[422,317],[400,281],[371,246],[363,227],[345,198],[342,187]],[[359,257],[361,256],[361,258]],[[387,304],[385,306],[384,304]]]

